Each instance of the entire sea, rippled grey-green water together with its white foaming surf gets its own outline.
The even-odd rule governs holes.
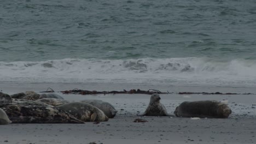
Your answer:
[[[0,0],[0,82],[256,86],[255,0]]]

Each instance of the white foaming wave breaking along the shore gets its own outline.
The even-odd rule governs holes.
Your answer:
[[[126,60],[60,59],[0,62],[4,82],[164,83],[168,85],[256,85],[254,60],[141,58]]]

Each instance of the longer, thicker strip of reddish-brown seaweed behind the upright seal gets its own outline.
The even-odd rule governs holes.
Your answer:
[[[68,91],[61,91],[62,94],[82,94],[82,95],[88,95],[88,94],[170,94],[170,92],[160,92],[156,89],[149,89],[148,91],[142,91],[141,89],[131,89],[130,91],[126,91],[125,89],[123,91],[87,91],[82,89],[72,89]]]

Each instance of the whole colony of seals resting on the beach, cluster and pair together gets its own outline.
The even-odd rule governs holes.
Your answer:
[[[154,93],[142,116],[172,116]],[[108,121],[117,110],[102,100],[70,102],[54,93],[35,92],[8,95],[0,92],[0,124],[12,123],[84,123]],[[176,107],[177,117],[228,118],[231,110],[227,104],[214,100],[184,101]]]

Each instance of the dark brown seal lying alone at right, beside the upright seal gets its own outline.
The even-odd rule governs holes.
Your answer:
[[[216,100],[184,101],[176,107],[177,117],[228,118],[231,114],[228,105]]]

